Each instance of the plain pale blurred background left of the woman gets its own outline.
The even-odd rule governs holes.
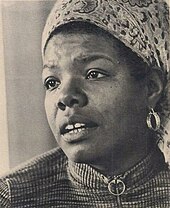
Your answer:
[[[41,81],[41,34],[54,2],[1,1],[0,174],[56,146]]]

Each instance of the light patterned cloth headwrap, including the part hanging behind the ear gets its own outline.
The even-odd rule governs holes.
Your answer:
[[[169,80],[169,10],[163,0],[58,0],[52,9],[42,37],[42,56],[51,34],[70,22],[89,22],[123,42],[151,69],[163,72]],[[170,117],[168,84],[161,103],[161,123]],[[170,98],[169,98],[170,100]]]

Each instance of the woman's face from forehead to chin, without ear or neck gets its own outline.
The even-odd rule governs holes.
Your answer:
[[[141,144],[147,90],[131,70],[116,41],[83,33],[50,39],[42,75],[45,109],[70,160],[107,161]]]

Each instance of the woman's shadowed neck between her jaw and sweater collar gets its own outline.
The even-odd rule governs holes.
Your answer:
[[[106,157],[107,160],[102,158],[91,166],[106,176],[122,174],[146,157],[154,146],[155,141],[152,138],[120,144]]]

